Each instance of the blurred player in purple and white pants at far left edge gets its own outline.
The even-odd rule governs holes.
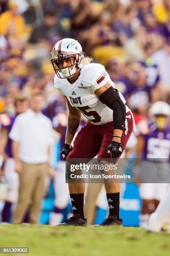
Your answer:
[[[24,113],[28,108],[28,99],[20,94],[14,100],[16,115],[12,116],[7,113],[0,114],[1,130],[0,130],[0,154],[4,157],[4,175],[9,184],[7,199],[2,210],[2,222],[10,222],[12,217],[11,206],[18,201],[19,177],[15,172],[15,161],[12,152],[12,140],[8,137],[15,118]]]

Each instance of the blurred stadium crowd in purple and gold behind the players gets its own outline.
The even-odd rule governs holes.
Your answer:
[[[105,65],[133,110],[136,136],[147,133],[150,106],[170,103],[170,0],[0,0],[0,113],[15,115],[19,93],[41,91],[42,112],[66,125],[50,63],[61,38]]]

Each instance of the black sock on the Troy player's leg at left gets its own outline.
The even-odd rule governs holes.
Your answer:
[[[72,213],[79,213],[82,218],[84,218],[84,193],[83,194],[70,194],[72,203]]]

